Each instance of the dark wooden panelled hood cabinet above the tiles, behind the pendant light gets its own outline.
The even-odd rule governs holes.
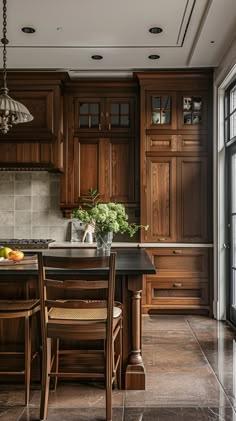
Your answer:
[[[9,74],[11,97],[24,104],[34,119],[0,135],[0,167],[62,169],[63,79],[65,74]]]

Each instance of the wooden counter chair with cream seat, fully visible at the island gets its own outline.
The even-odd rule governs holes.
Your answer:
[[[40,420],[45,420],[47,417],[50,378],[57,379],[58,377],[104,379],[106,420],[112,420],[112,384],[117,377],[118,384],[121,386],[122,360],[122,309],[120,303],[114,303],[115,260],[115,253],[111,253],[110,256],[96,257],[39,255],[43,346]],[[71,274],[68,275],[67,272],[62,276],[50,275],[49,279],[47,267],[71,269]],[[83,272],[78,274],[75,270],[79,269],[83,269]],[[102,269],[102,276],[98,273],[96,275],[96,270],[100,269]],[[103,349],[98,351],[93,348],[93,350],[85,351],[82,347],[83,350],[80,351],[64,351],[67,355],[68,352],[76,352],[78,366],[81,366],[81,360],[85,362],[85,365],[80,372],[76,372],[75,369],[69,373],[60,372],[58,357],[63,351],[59,351],[57,347],[54,355],[52,343],[56,340],[58,344],[61,339],[76,340],[80,346],[82,343],[86,344],[86,341],[87,343],[89,341],[90,346],[91,341],[99,341]],[[97,367],[98,352],[103,363],[102,370],[101,367]],[[90,356],[91,364],[89,363]],[[93,363],[95,367],[92,367]]]

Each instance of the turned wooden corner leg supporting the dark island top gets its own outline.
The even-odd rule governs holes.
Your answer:
[[[142,276],[128,277],[128,290],[131,291],[131,352],[125,371],[125,389],[145,389],[145,368],[141,349],[141,298]]]

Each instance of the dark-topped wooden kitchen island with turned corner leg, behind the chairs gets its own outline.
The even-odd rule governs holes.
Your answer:
[[[142,275],[155,274],[156,270],[144,249],[112,249],[117,251],[115,299],[123,303],[123,384],[126,389],[145,389],[145,367],[142,360],[141,344],[141,297]],[[57,249],[43,250],[43,254],[59,256],[92,256],[94,249]],[[82,271],[70,271],[76,275]],[[92,276],[93,271],[88,271]],[[102,274],[102,271],[99,272]],[[49,274],[66,276],[67,270]],[[26,293],[37,293],[37,265],[0,266],[0,293],[2,298],[21,298]],[[22,346],[23,325],[12,325],[10,321],[1,323],[0,345]],[[36,329],[35,344],[39,342],[39,330]]]

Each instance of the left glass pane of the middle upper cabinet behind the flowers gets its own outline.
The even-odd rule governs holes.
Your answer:
[[[100,123],[100,104],[80,103],[79,106],[79,127],[81,129],[96,129]]]

